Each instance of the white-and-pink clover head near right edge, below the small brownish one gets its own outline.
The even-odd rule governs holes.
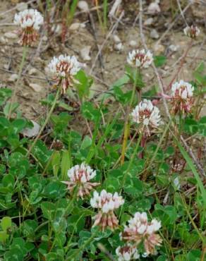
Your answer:
[[[190,112],[193,105],[194,87],[183,80],[174,83],[171,86],[171,103],[176,114],[178,111],[183,113]]]

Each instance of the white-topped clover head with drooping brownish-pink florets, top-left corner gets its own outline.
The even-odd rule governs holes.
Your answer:
[[[44,23],[44,18],[37,10],[26,9],[16,13],[13,23],[21,28],[19,33],[20,44],[32,46],[37,41],[38,31],[40,30],[40,25]]]

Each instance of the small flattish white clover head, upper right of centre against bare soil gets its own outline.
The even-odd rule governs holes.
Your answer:
[[[127,62],[131,66],[138,68],[148,68],[153,61],[152,53],[150,51],[133,50],[128,53]]]

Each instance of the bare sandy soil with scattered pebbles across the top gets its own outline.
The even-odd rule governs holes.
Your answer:
[[[13,73],[18,73],[19,64],[22,56],[22,47],[18,44],[18,38],[6,37],[8,32],[16,32],[18,28],[12,25],[13,16],[16,10],[11,10],[11,8],[16,7],[17,1],[0,1],[0,83],[1,86],[6,86],[11,89],[14,87],[14,82],[11,82],[11,75]],[[90,2],[90,1],[88,1]],[[34,8],[36,4],[32,4]],[[205,8],[206,6],[202,6]],[[163,8],[163,7],[162,7]],[[195,19],[200,22],[201,35],[198,40],[193,43],[184,67],[181,73],[178,74],[178,79],[183,78],[183,80],[193,80],[193,70],[198,66],[201,61],[206,59],[206,45],[205,45],[205,27],[203,26],[201,13],[197,12],[198,6],[194,6],[192,10],[189,10],[185,16],[188,19]],[[80,23],[77,30],[68,30],[68,35],[66,35],[66,42],[61,43],[61,32],[58,31],[52,36],[47,35],[47,28],[42,28],[40,35],[40,42],[33,48],[28,49],[27,58],[23,68],[23,76],[20,80],[20,84],[17,86],[16,100],[20,103],[20,109],[23,115],[28,119],[37,120],[42,114],[44,114],[46,108],[42,107],[40,101],[47,97],[48,93],[51,92],[51,87],[49,87],[49,82],[47,79],[47,74],[44,68],[47,66],[49,61],[53,56],[59,56],[59,54],[75,55],[78,60],[86,64],[85,71],[94,77],[94,84],[92,85],[92,90],[97,90],[97,92],[92,91],[92,95],[97,95],[99,91],[108,90],[112,84],[123,76],[124,68],[126,65],[126,56],[128,51],[134,48],[141,48],[141,39],[137,23],[134,23],[136,16],[138,15],[138,6],[133,4],[123,4],[122,9],[125,11],[121,22],[117,25],[116,35],[119,36],[121,43],[123,44],[123,49],[117,51],[114,47],[113,37],[105,42],[104,48],[102,49],[102,66],[99,63],[99,59],[95,62],[95,57],[97,56],[97,45],[99,47],[105,41],[105,38],[109,34],[109,29],[104,34],[99,28],[99,23],[97,20],[97,15],[95,11],[92,12],[92,17],[95,20],[95,33],[92,30],[90,20],[88,20],[87,14],[83,13],[75,16],[72,23]],[[200,9],[200,8],[199,8]],[[7,11],[7,13],[5,13]],[[201,10],[202,11],[202,10]],[[206,12],[206,8],[205,8]],[[147,40],[147,45],[150,47],[154,55],[165,55],[167,56],[167,62],[162,67],[159,68],[159,74],[164,80],[164,85],[169,83],[169,80],[173,78],[176,72],[179,59],[183,55],[183,52],[188,46],[189,39],[183,35],[183,28],[185,27],[184,20],[180,18],[175,24],[174,28],[169,30],[168,35],[166,35],[160,45],[157,47],[157,40],[153,40],[150,37],[151,30],[157,30],[159,37],[162,36],[171,21],[174,19],[171,12],[164,11],[163,14],[151,16],[147,14],[143,16],[143,23],[148,18],[153,18],[152,25],[144,25],[145,37]],[[204,13],[204,12],[203,12]],[[112,25],[116,23],[116,20],[112,20]],[[61,25],[61,24],[60,24]],[[114,35],[114,34],[112,34]],[[111,36],[112,36],[111,35]],[[95,36],[97,40],[95,40]],[[135,47],[131,47],[131,41],[135,41]],[[171,45],[174,45],[175,49],[172,50]],[[83,47],[90,47],[91,61],[84,61],[80,55],[80,50]],[[30,74],[31,69],[35,68],[35,73]],[[91,68],[93,68],[91,70]],[[157,85],[157,79],[154,77],[152,69],[145,71],[145,81],[147,83],[147,89],[152,87],[152,85]],[[177,79],[177,80],[178,80]],[[37,84],[38,90],[33,90],[30,87],[30,83]],[[69,103],[69,99],[68,99]]]

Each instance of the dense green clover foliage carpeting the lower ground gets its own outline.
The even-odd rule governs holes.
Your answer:
[[[68,20],[73,18],[76,4],[68,3]],[[109,2],[103,4],[106,28]],[[154,64],[164,66],[166,56],[154,56]],[[35,141],[23,136],[32,123],[23,118],[17,103],[12,104],[9,116],[11,90],[0,89],[0,259],[109,260],[111,256],[116,260],[115,250],[123,245],[119,234],[135,212],[147,212],[149,221],[155,218],[162,224],[156,232],[163,240],[157,255],[143,257],[141,241],[140,260],[205,258],[204,173],[181,139],[192,150],[198,148],[194,154],[202,164],[206,117],[200,111],[205,66],[200,63],[193,74],[197,106],[187,115],[162,116],[159,128],[145,127],[150,133],[142,133],[140,124],[133,124],[129,116],[141,95],[158,106],[162,99],[156,82],[147,87],[144,70],[126,66],[123,76],[98,99],[89,99],[93,80],[79,71],[74,86],[56,104],[54,94],[42,100],[56,111],[49,114],[47,126]],[[164,115],[161,106],[159,109]],[[126,123],[130,128],[122,161]],[[79,197],[85,183],[76,176],[77,186],[73,186],[68,169],[82,163],[96,171],[89,181],[96,184],[94,188],[87,184],[92,191]],[[93,190],[103,189],[119,193],[124,200],[114,210],[119,221],[114,231],[92,226],[100,210],[92,209],[90,198]]]

